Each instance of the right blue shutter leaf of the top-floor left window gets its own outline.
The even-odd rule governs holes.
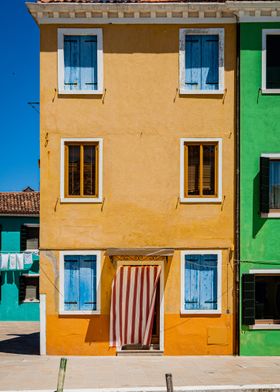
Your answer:
[[[81,89],[97,90],[97,36],[81,36]]]

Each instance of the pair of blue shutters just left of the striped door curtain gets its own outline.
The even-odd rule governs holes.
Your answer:
[[[97,309],[95,255],[64,256],[64,310]]]

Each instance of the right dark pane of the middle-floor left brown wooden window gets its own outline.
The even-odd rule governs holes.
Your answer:
[[[84,195],[96,194],[96,146],[84,146]]]

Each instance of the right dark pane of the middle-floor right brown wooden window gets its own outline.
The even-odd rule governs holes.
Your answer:
[[[215,194],[215,145],[203,146],[203,195]]]

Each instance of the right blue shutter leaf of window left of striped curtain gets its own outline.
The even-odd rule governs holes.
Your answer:
[[[96,310],[96,256],[81,256],[80,310]]]

